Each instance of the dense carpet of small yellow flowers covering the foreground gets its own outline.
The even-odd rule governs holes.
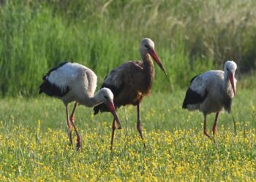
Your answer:
[[[256,181],[254,129],[222,130],[215,143],[195,129],[144,132],[146,149],[127,129],[116,132],[113,151],[111,130],[81,130],[76,151],[66,132],[39,127],[0,127],[0,181]]]

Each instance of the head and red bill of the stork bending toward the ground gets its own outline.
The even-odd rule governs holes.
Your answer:
[[[108,106],[109,111],[113,114],[118,124],[118,129],[121,129],[121,123],[119,122],[118,116],[116,114],[116,107],[113,103],[114,95],[108,88],[102,88],[99,90],[99,99]]]

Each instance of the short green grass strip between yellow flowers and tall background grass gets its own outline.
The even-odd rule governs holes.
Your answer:
[[[141,103],[141,122],[146,130],[173,130],[197,127],[202,129],[203,114],[198,111],[191,112],[181,109],[185,91],[173,93],[153,92]],[[249,97],[248,97],[249,96]],[[239,130],[256,127],[255,105],[256,92],[253,90],[239,90],[237,97],[233,99],[232,114],[223,113],[219,116],[219,124],[227,128],[233,128],[234,121]],[[69,105],[69,111],[72,104]],[[135,106],[121,107],[118,115],[124,126],[136,129],[137,111]],[[214,114],[207,117],[208,128],[214,122]],[[92,108],[78,107],[75,114],[78,128],[93,130],[101,122],[112,124],[110,113],[93,115]],[[42,122],[42,130],[52,129],[66,130],[65,107],[61,100],[49,97],[40,98],[5,98],[0,101],[0,118],[4,125],[22,124],[25,127],[37,127],[37,122]],[[90,127],[91,126],[91,127]]]

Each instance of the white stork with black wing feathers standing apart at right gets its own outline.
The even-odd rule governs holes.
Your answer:
[[[203,133],[211,138],[206,130],[206,116],[212,112],[216,113],[213,134],[217,132],[217,122],[219,113],[222,110],[230,113],[232,98],[236,95],[236,63],[228,60],[225,63],[224,71],[206,71],[192,78],[187,90],[182,108],[189,111],[199,110],[203,113]]]

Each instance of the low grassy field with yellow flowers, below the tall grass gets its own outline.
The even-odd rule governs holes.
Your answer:
[[[83,149],[69,146],[61,101],[0,100],[0,181],[255,181],[256,92],[238,90],[232,114],[219,117],[216,143],[203,136],[203,116],[181,109],[184,91],[153,92],[143,100],[146,149],[136,109],[121,108],[111,152],[110,114],[78,107]],[[249,97],[248,97],[249,96]],[[208,116],[211,130],[214,114]]]

